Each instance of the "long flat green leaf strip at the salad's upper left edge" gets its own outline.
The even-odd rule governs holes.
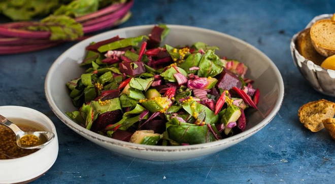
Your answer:
[[[102,45],[101,47],[98,48],[98,51],[103,53],[109,50],[125,48],[128,46],[137,46],[144,37],[147,37],[147,36],[131,37],[131,38],[125,38],[125,39],[121,39],[118,41],[114,41],[112,43]]]

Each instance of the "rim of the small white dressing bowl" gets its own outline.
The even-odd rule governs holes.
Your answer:
[[[13,110],[21,110],[21,111],[30,111],[31,113],[34,113],[37,116],[42,117],[43,119],[46,120],[44,122],[47,123],[47,124],[49,124],[51,126],[51,131],[55,134],[54,140],[58,139],[55,125],[53,124],[53,122],[51,121],[51,119],[48,116],[46,116],[45,114],[43,114],[42,112],[40,112],[38,110],[35,110],[35,109],[28,108],[28,107],[23,107],[23,106],[0,106],[0,111],[3,110],[3,109],[13,109]],[[15,116],[15,117],[19,117],[19,116]],[[27,118],[24,118],[24,117],[20,117],[20,118],[27,119]],[[41,124],[43,126],[43,123],[40,123],[40,122],[36,122],[36,123]],[[5,162],[19,162],[21,160],[30,159],[31,157],[37,156],[37,154],[40,154],[40,153],[43,154],[42,152],[44,150],[50,148],[50,147],[51,147],[51,144],[48,144],[46,147],[44,147],[42,149],[39,149],[38,151],[33,152],[33,153],[31,153],[29,155],[26,155],[26,156],[23,156],[23,157],[11,158],[11,159],[0,159],[0,164],[1,163],[5,163]],[[56,159],[57,159],[57,157],[56,157]]]

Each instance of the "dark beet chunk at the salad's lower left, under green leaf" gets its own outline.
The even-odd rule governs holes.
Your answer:
[[[100,131],[106,128],[107,125],[116,123],[122,118],[122,111],[120,109],[115,111],[105,112],[98,116],[92,124],[92,131]]]

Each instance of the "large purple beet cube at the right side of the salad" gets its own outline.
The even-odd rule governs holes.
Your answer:
[[[216,86],[218,88],[229,90],[232,87],[241,88],[242,82],[235,74],[229,72],[228,70],[223,70]]]

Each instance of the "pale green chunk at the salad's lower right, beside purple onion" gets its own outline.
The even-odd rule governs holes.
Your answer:
[[[227,135],[231,131],[231,128],[227,128],[229,122],[236,122],[241,116],[241,110],[236,105],[230,105],[227,109],[224,109],[221,116],[221,123],[224,124],[224,133]]]

